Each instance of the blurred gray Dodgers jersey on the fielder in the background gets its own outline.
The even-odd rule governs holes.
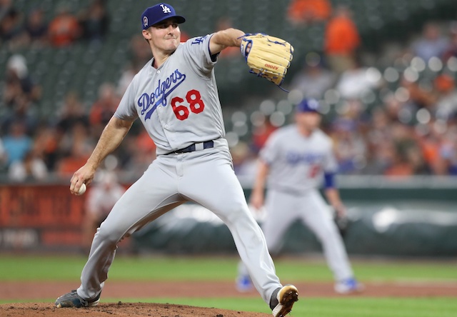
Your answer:
[[[320,129],[306,137],[295,124],[271,134],[260,153],[270,166],[268,188],[301,193],[321,184],[323,173],[335,173],[331,139]]]

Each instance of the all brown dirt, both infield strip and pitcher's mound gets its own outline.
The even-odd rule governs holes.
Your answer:
[[[39,301],[56,298],[74,289],[69,282],[2,282],[0,298],[6,301]],[[341,297],[333,292],[331,283],[298,283],[301,298]],[[256,291],[238,293],[230,282],[126,282],[106,283],[99,306],[80,309],[57,309],[53,303],[8,303],[0,305],[0,316],[59,316],[76,317],[81,313],[90,316],[161,316],[161,317],[266,317],[267,313],[227,311],[219,308],[199,308],[179,303],[103,303],[103,298],[258,298]],[[361,297],[457,297],[457,283],[368,283]],[[81,309],[83,311],[81,311]]]

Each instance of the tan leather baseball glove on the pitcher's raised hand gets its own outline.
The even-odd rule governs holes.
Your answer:
[[[290,43],[267,34],[245,34],[240,49],[251,73],[281,88],[292,60],[293,47]]]

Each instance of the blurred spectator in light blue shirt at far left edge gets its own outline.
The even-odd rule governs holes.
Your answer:
[[[16,121],[9,127],[9,134],[4,136],[3,145],[7,156],[6,167],[9,167],[11,163],[24,160],[32,149],[33,141],[26,135],[24,124]]]

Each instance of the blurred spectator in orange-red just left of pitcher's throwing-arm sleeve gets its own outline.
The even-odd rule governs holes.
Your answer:
[[[119,96],[116,94],[116,88],[111,83],[104,83],[99,88],[99,99],[91,107],[89,121],[94,128],[93,133],[97,136],[101,134],[104,126],[108,124],[109,119],[119,105]],[[84,165],[84,164],[83,164]]]

